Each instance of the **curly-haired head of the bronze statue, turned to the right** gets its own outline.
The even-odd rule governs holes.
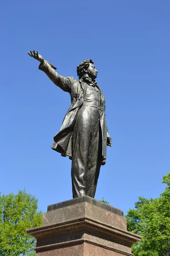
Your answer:
[[[85,60],[77,66],[77,76],[82,78],[83,76],[89,76],[92,80],[96,79],[98,71],[94,67],[94,61]]]

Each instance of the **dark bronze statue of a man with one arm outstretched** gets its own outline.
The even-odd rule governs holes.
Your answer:
[[[28,54],[40,61],[39,69],[71,95],[71,106],[54,136],[51,148],[72,160],[73,198],[94,198],[100,166],[105,165],[106,145],[112,146],[105,120],[105,96],[97,85],[94,62],[85,60],[77,67],[79,80],[60,76],[56,69],[35,50]]]

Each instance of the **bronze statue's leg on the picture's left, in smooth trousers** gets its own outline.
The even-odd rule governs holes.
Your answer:
[[[72,134],[71,179],[73,198],[86,195],[88,151],[94,129],[90,106],[80,108]]]

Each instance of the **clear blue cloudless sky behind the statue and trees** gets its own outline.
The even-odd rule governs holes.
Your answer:
[[[72,198],[71,160],[51,149],[71,101],[38,70],[36,49],[62,76],[92,58],[113,147],[95,198],[122,209],[156,198],[170,172],[170,1],[2,0],[0,192],[26,191],[46,211]]]

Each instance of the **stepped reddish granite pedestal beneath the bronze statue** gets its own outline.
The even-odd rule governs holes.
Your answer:
[[[127,232],[123,212],[83,196],[48,206],[43,224],[27,230],[36,256],[132,256],[141,237]]]

